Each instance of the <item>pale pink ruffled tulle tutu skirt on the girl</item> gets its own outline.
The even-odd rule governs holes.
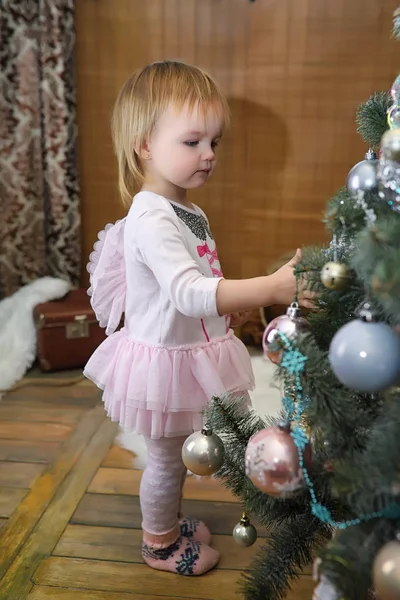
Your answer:
[[[201,429],[213,396],[254,388],[250,356],[230,330],[196,346],[147,346],[125,329],[109,336],[84,374],[103,390],[107,414],[153,439]]]

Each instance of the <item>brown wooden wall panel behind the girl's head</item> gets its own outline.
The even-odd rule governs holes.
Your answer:
[[[363,157],[354,116],[387,89],[400,45],[397,0],[79,0],[78,125],[84,262],[124,214],[109,134],[112,103],[138,66],[166,58],[206,68],[233,126],[213,180],[193,194],[228,277],[248,277],[324,238],[326,200]]]

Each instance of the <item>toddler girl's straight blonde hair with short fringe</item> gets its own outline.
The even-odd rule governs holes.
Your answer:
[[[124,204],[130,204],[136,186],[144,181],[139,156],[159,117],[172,105],[188,105],[204,112],[210,106],[229,124],[227,100],[211,77],[192,65],[176,61],[154,62],[137,70],[122,86],[114,105],[111,132],[118,160],[118,187]]]

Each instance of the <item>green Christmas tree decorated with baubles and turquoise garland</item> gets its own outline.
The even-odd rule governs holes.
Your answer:
[[[279,422],[229,398],[208,413],[225,447],[217,476],[268,530],[243,576],[248,600],[285,598],[313,560],[315,599],[400,598],[400,76],[357,125],[369,150],[328,203],[332,241],[296,268],[317,309],[304,320],[294,299],[264,334]]]

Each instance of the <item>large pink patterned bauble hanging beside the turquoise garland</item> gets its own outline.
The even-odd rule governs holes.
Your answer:
[[[311,465],[311,448],[306,444],[303,461]],[[290,424],[267,427],[254,435],[245,453],[246,475],[262,492],[288,498],[304,486],[297,446],[290,435]]]

